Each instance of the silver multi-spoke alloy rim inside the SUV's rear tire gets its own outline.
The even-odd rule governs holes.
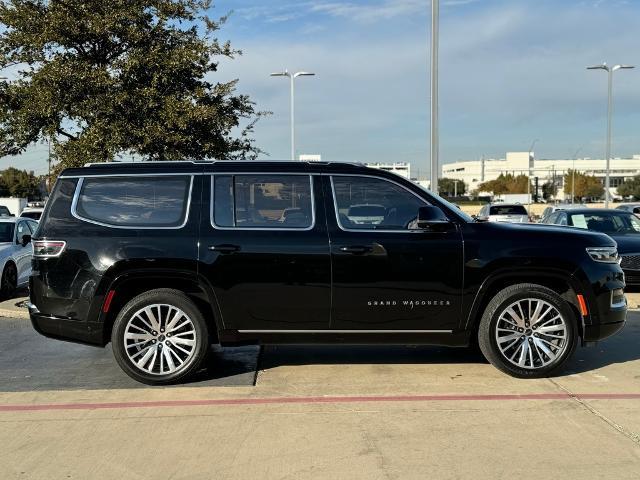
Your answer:
[[[196,351],[196,328],[181,309],[165,304],[134,313],[124,330],[124,350],[139,370],[170,375],[185,368]]]

